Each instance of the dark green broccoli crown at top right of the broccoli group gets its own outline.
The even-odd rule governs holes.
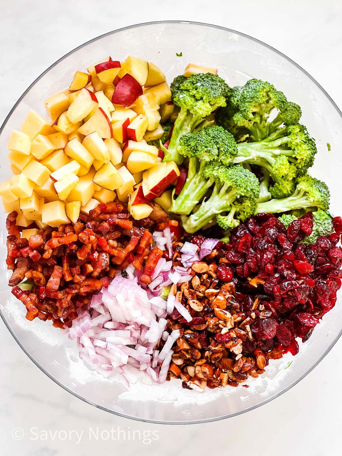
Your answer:
[[[273,109],[277,109],[279,113],[269,122],[269,115]],[[233,135],[238,133],[234,124],[240,128],[244,127],[252,141],[266,138],[283,123],[297,124],[300,118],[301,108],[297,104],[287,101],[283,92],[259,79],[251,79],[243,87],[234,87],[229,108],[218,113],[220,125]]]

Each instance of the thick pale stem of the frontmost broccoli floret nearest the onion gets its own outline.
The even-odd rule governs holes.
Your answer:
[[[195,231],[211,222],[216,214],[232,209],[231,203],[236,199],[237,193],[235,189],[230,192],[227,192],[227,190],[226,184],[223,184],[223,186],[215,185],[210,198],[207,201],[203,201],[196,212],[190,217],[181,216],[183,228],[187,233],[195,233]]]

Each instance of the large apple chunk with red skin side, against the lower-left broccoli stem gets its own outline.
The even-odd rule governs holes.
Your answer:
[[[148,200],[152,200],[160,196],[167,187],[176,181],[179,175],[180,172],[174,161],[159,163],[153,168],[150,168],[147,173],[147,179],[144,175],[142,182],[145,197]]]

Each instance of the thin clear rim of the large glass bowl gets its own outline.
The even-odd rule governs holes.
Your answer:
[[[288,62],[292,63],[293,65],[295,65],[295,67],[297,67],[302,73],[306,74],[306,76],[308,78],[311,79],[311,81],[321,90],[322,93],[324,93],[324,95],[326,96],[326,98],[329,99],[329,101],[331,102],[331,104],[334,106],[334,108],[336,109],[337,113],[339,114],[339,116],[341,117],[342,119],[342,112],[341,110],[338,108],[337,104],[334,102],[334,100],[330,97],[330,95],[326,92],[326,90],[324,90],[324,88],[316,81],[316,79],[314,79],[311,74],[309,74],[306,70],[304,70],[300,65],[298,65],[296,62],[294,62],[292,59],[290,59],[290,57],[287,57],[285,54],[283,54],[282,52],[278,51],[277,49],[275,49],[274,47],[272,46],[269,46],[268,44],[264,43],[263,41],[260,41],[258,40],[257,38],[254,38],[253,36],[249,36],[245,33],[242,33],[242,32],[239,32],[239,31],[236,31],[236,30],[232,30],[232,29],[229,29],[227,27],[223,27],[223,26],[216,26],[216,25],[213,25],[213,24],[207,24],[205,22],[196,22],[196,21],[150,21],[150,22],[142,22],[140,24],[134,24],[134,25],[131,25],[131,26],[127,26],[127,27],[122,27],[122,28],[119,28],[117,30],[113,30],[113,31],[110,31],[110,32],[107,32],[107,33],[104,33],[103,35],[100,35],[100,36],[97,36],[96,38],[93,38],[92,40],[89,40],[83,44],[81,44],[80,46],[78,47],[75,47],[75,49],[73,49],[72,51],[68,52],[67,54],[65,54],[63,57],[61,57],[60,59],[58,59],[55,63],[53,63],[50,67],[48,67],[43,73],[41,73],[40,76],[38,76],[38,78],[36,78],[33,83],[25,90],[25,92],[21,95],[21,97],[17,100],[16,104],[13,106],[13,108],[10,110],[9,114],[7,115],[7,117],[5,118],[3,124],[1,125],[1,128],[0,128],[0,134],[2,133],[2,130],[4,130],[5,128],[5,125],[7,124],[7,121],[10,119],[10,116],[12,115],[13,111],[16,109],[17,105],[21,102],[21,100],[25,97],[26,93],[29,92],[29,90],[46,74],[48,73],[53,67],[55,67],[59,62],[62,62],[62,60],[64,60],[66,57],[70,56],[71,54],[73,54],[74,52],[78,51],[79,49],[82,49],[83,47],[87,46],[88,44],[90,43],[93,43],[94,41],[97,41],[101,38],[103,38],[104,36],[109,36],[109,35],[114,35],[115,33],[118,33],[120,31],[124,31],[124,30],[130,30],[130,29],[134,29],[134,28],[137,28],[137,27],[140,27],[140,26],[148,26],[148,25],[153,25],[153,24],[192,24],[192,25],[197,25],[197,26],[206,26],[206,27],[212,27],[212,28],[216,28],[216,29],[221,29],[221,30],[224,30],[224,31],[228,31],[230,33],[235,33],[239,36],[244,36],[245,38],[248,38],[249,40],[252,40],[252,41],[255,41],[259,44],[261,44],[262,46],[264,47],[267,47],[268,49],[270,49],[271,51],[275,52],[276,54],[280,55],[281,57],[284,57]],[[246,413],[246,412],[249,412],[250,410],[254,410],[254,409],[257,409],[258,407],[264,405],[264,404],[267,404],[268,402],[272,401],[273,399],[276,399],[278,398],[279,396],[281,396],[281,394],[284,394],[286,391],[288,391],[289,389],[291,389],[293,386],[295,386],[298,382],[300,382],[304,377],[306,377],[306,375],[308,373],[310,373],[314,368],[316,368],[316,366],[321,362],[321,360],[323,358],[325,358],[325,356],[330,352],[330,350],[332,349],[332,347],[336,344],[336,342],[338,341],[338,339],[341,337],[342,335],[342,328],[340,330],[340,332],[338,333],[337,337],[332,341],[332,343],[330,344],[330,346],[326,349],[326,352],[316,361],[316,363],[306,371],[306,373],[304,373],[303,375],[301,375],[301,377],[297,378],[294,382],[292,382],[287,388],[283,389],[282,391],[280,391],[278,394],[275,394],[273,397],[269,398],[269,399],[266,399],[264,400],[263,402],[261,402],[260,404],[258,405],[255,405],[253,407],[250,407],[248,409],[245,409],[245,410],[242,410],[242,411],[239,411],[237,413],[233,413],[233,414],[230,414],[230,415],[226,415],[226,416],[220,416],[218,418],[211,418],[211,419],[207,419],[207,420],[193,420],[193,421],[187,421],[187,422],[175,422],[175,421],[168,421],[168,422],[165,422],[165,421],[159,421],[159,420],[147,420],[147,419],[143,419],[143,418],[139,418],[139,417],[133,417],[133,416],[129,416],[129,415],[125,415],[123,413],[119,413],[119,412],[116,412],[116,411],[113,411],[113,410],[109,410],[107,409],[106,407],[102,407],[98,404],[95,404],[93,403],[92,401],[89,401],[85,398],[83,398],[82,396],[80,396],[79,394],[75,393],[74,391],[71,391],[69,388],[67,388],[65,385],[63,385],[62,383],[60,383],[56,378],[54,378],[50,373],[48,373],[45,369],[43,369],[41,367],[41,365],[36,362],[35,359],[33,359],[30,355],[29,352],[27,352],[26,348],[23,346],[23,344],[19,341],[19,339],[16,337],[16,334],[11,330],[10,326],[7,324],[7,321],[5,319],[5,316],[3,315],[1,309],[0,309],[0,316],[3,320],[3,322],[5,323],[5,326],[7,327],[7,329],[9,330],[9,332],[11,333],[11,335],[13,336],[13,338],[15,339],[15,341],[17,342],[17,344],[19,345],[19,347],[21,347],[21,349],[23,350],[23,352],[25,352],[25,354],[31,359],[31,361],[43,372],[47,375],[47,377],[51,378],[55,383],[57,383],[57,385],[61,386],[63,389],[65,389],[66,391],[68,391],[70,394],[73,394],[73,396],[77,397],[78,399],[81,399],[83,400],[84,402],[86,402],[87,404],[90,404],[90,405],[93,405],[94,407],[98,408],[98,409],[102,409],[106,412],[109,412],[109,413],[112,413],[114,415],[118,415],[118,416],[121,416],[123,418],[128,418],[128,419],[131,419],[131,420],[137,420],[137,421],[143,421],[143,422],[147,422],[147,423],[155,423],[155,424],[168,424],[168,425],[184,425],[184,424],[200,424],[200,423],[206,423],[206,422],[210,422],[210,421],[218,421],[218,420],[224,420],[226,418],[231,418],[233,416],[236,416],[236,415],[241,415],[243,413]]]

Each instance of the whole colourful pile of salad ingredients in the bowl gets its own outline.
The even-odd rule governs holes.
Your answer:
[[[238,386],[337,301],[342,218],[272,84],[106,57],[30,111],[0,185],[12,294],[126,387]],[[138,375],[139,374],[139,375]],[[247,384],[243,386],[248,387]]]

